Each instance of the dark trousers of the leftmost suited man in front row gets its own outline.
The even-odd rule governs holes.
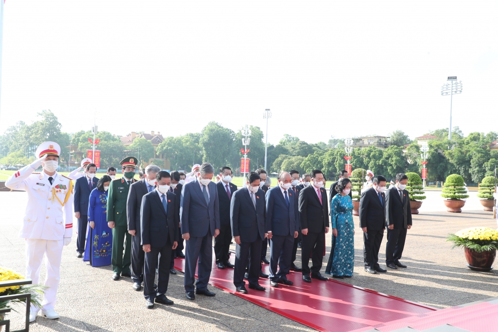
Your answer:
[[[145,297],[145,300],[154,302],[156,295],[166,294],[169,282],[169,257],[171,257],[172,246],[168,236],[165,246],[150,246],[150,251],[145,252],[145,264],[143,267],[143,296]],[[154,289],[156,267],[157,291]]]

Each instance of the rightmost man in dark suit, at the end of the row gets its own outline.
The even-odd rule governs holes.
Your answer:
[[[385,265],[391,269],[405,268],[399,262],[403,253],[406,230],[411,228],[411,207],[408,191],[405,190],[408,177],[404,173],[396,174],[396,185],[391,186],[385,194],[385,221],[387,226],[387,244],[385,246]]]

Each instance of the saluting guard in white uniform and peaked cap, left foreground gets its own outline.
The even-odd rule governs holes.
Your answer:
[[[50,319],[59,318],[54,311],[60,279],[62,247],[71,242],[73,234],[73,183],[56,172],[60,146],[44,142],[36,149],[38,160],[15,172],[5,187],[24,190],[28,204],[24,214],[20,237],[26,239],[26,278],[38,284],[43,256],[46,255],[47,278],[42,308],[31,305],[29,321],[36,319],[38,311]],[[39,166],[41,173],[33,173]]]

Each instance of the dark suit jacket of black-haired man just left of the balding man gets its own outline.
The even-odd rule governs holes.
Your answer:
[[[256,208],[250,199],[247,186],[232,196],[230,220],[232,236],[240,236],[242,242],[254,242],[257,237],[264,240],[269,225],[266,224],[266,202],[264,192],[259,189],[255,194]]]

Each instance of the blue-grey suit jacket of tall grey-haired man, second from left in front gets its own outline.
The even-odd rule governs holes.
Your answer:
[[[211,230],[220,229],[220,206],[216,184],[210,182],[209,205],[202,193],[199,181],[189,182],[182,188],[180,198],[180,221],[182,234],[190,233],[191,237],[204,237]]]

